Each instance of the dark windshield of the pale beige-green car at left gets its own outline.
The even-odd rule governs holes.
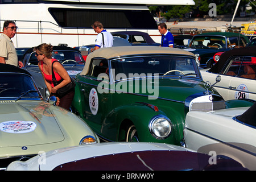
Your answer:
[[[40,98],[40,95],[31,77],[24,74],[1,73],[0,99],[16,100],[17,98]]]

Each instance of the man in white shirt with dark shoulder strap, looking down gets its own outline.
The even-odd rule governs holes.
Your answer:
[[[106,30],[104,30],[104,27],[101,22],[94,22],[92,24],[92,28],[96,33],[98,33],[98,35],[95,47],[91,49],[91,52],[102,47],[113,47],[113,36]]]

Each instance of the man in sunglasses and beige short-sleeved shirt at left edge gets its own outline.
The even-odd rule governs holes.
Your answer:
[[[0,36],[0,63],[15,65],[16,67],[23,67],[21,61],[18,61],[18,56],[14,43],[11,40],[16,34],[15,22],[6,20],[3,23],[3,33]]]

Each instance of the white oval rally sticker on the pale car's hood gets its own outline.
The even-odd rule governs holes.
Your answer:
[[[0,123],[0,130],[6,133],[29,133],[36,129],[36,123],[32,121],[5,121]]]

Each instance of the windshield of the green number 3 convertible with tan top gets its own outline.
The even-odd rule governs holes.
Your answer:
[[[194,59],[181,56],[141,56],[127,57],[111,61],[112,73],[116,77],[192,76],[200,77]]]

